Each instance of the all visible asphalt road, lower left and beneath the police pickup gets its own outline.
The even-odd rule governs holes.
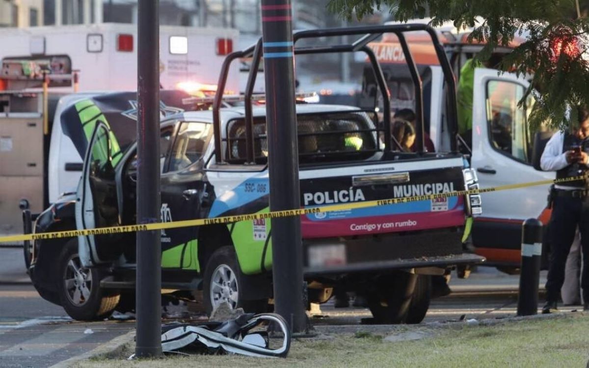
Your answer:
[[[133,320],[72,321],[61,307],[42,300],[27,280],[21,251],[0,249],[0,367],[49,367],[135,327]],[[480,268],[468,280],[453,278],[453,293],[432,301],[424,323],[514,316],[517,287],[518,276],[491,268]],[[358,326],[370,317],[366,308],[336,309],[329,302],[314,311],[312,323]]]

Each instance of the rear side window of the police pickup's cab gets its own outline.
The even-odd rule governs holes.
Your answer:
[[[181,123],[170,155],[169,171],[182,170],[203,156],[211,133],[209,123]]]

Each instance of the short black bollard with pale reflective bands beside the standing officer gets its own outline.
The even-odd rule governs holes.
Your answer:
[[[521,230],[521,274],[517,315],[531,316],[538,313],[538,283],[542,258],[542,222],[527,219]]]

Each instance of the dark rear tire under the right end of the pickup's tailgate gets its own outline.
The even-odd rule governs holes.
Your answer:
[[[415,274],[398,272],[382,278],[378,291],[367,293],[368,308],[376,323],[405,323],[416,280]]]

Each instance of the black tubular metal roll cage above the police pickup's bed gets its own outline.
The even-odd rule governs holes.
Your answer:
[[[405,60],[411,73],[413,80],[413,86],[415,88],[415,115],[416,115],[416,144],[417,152],[424,153],[424,124],[423,124],[423,88],[422,80],[419,76],[419,71],[411,50],[405,40],[404,34],[406,32],[425,31],[429,34],[434,44],[436,55],[438,56],[439,63],[444,71],[444,80],[446,88],[448,88],[448,123],[449,130],[452,137],[451,150],[453,153],[457,152],[458,140],[461,137],[458,134],[458,113],[456,111],[456,83],[454,80],[454,73],[452,73],[451,65],[446,58],[444,47],[438,40],[434,28],[429,27],[426,24],[406,24],[406,25],[376,25],[366,27],[343,27],[343,28],[328,28],[328,29],[311,29],[306,31],[294,32],[294,55],[305,55],[305,54],[323,54],[331,52],[365,52],[369,58],[370,64],[372,65],[373,72],[376,77],[378,88],[382,96],[390,96],[388,88],[386,87],[385,76],[382,72],[382,68],[376,59],[376,56],[368,44],[384,33],[394,33],[401,43]],[[362,35],[358,40],[349,44],[330,45],[326,47],[296,47],[296,42],[304,38],[320,38],[320,37],[337,37],[346,35]],[[213,124],[214,124],[214,139],[215,139],[215,155],[217,157],[217,163],[225,163],[225,157],[221,151],[221,119],[219,109],[223,102],[223,93],[226,86],[227,75],[229,74],[229,68],[231,63],[239,58],[252,58],[252,66],[247,79],[246,91],[245,91],[245,112],[246,112],[246,157],[248,163],[254,162],[254,136],[253,136],[253,116],[252,116],[252,95],[254,89],[254,83],[256,81],[256,75],[260,65],[260,60],[263,57],[263,42],[262,38],[255,44],[246,48],[243,51],[234,51],[227,55],[221,66],[221,73],[219,76],[219,84],[217,87],[217,93],[213,103]],[[250,103],[248,103],[250,101]],[[383,98],[383,127],[382,129],[376,129],[378,132],[383,133],[385,143],[385,153],[391,152],[391,144],[401,149],[401,145],[396,141],[395,137],[391,135],[391,100],[389,98]],[[463,142],[464,143],[464,142]]]

